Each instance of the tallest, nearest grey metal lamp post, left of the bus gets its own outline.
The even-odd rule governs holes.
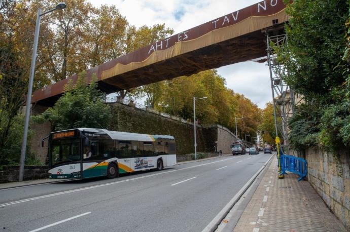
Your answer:
[[[35,27],[35,33],[34,33],[34,45],[33,45],[33,52],[31,55],[31,64],[30,64],[30,76],[29,76],[29,84],[28,84],[28,93],[27,93],[27,103],[25,106],[25,120],[24,120],[24,132],[23,132],[23,140],[22,140],[22,148],[21,148],[21,160],[19,165],[19,178],[18,181],[23,181],[23,173],[24,173],[24,161],[25,161],[25,149],[27,146],[27,135],[28,135],[28,125],[29,125],[29,115],[30,115],[30,103],[31,103],[31,92],[33,88],[33,80],[34,80],[34,69],[35,69],[35,63],[37,60],[37,48],[38,48],[38,41],[39,41],[39,30],[40,30],[40,19],[41,16],[46,15],[50,12],[53,12],[55,10],[63,10],[66,8],[65,3],[59,3],[56,5],[55,8],[46,11],[44,13],[41,13],[41,9],[38,9],[37,13],[37,23]]]

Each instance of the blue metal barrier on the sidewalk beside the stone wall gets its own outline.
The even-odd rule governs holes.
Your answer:
[[[281,173],[279,173],[279,175],[287,174],[286,171],[289,171],[300,176],[298,181],[305,179],[307,175],[306,160],[299,157],[288,156],[287,154],[281,154],[280,164]]]

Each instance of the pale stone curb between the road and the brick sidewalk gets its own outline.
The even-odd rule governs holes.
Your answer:
[[[239,189],[237,194],[227,203],[227,205],[216,215],[216,217],[209,222],[209,224],[202,230],[202,232],[213,232],[217,229],[218,225],[221,221],[226,217],[226,215],[230,212],[232,207],[237,203],[240,197],[247,191],[247,189],[252,185],[257,176],[267,167],[267,164],[274,157],[274,154],[266,161],[266,163],[252,176],[252,178],[244,184],[244,186]]]

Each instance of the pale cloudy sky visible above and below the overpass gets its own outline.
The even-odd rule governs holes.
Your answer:
[[[116,5],[130,24],[140,27],[165,23],[174,34],[256,4],[258,0],[89,0],[95,7]],[[282,0],[281,0],[282,1]],[[218,68],[227,87],[244,94],[260,108],[272,100],[266,63],[241,62]],[[143,103],[143,102],[140,102]]]

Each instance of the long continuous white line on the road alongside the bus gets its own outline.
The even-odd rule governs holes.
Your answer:
[[[177,171],[182,171],[182,170],[186,170],[186,169],[190,169],[190,168],[196,168],[196,167],[201,167],[201,166],[204,166],[204,165],[215,164],[215,163],[218,163],[218,162],[232,160],[234,158],[235,157],[229,158],[229,159],[225,159],[225,160],[219,160],[219,161],[214,161],[214,162],[210,162],[210,163],[195,165],[195,166],[191,166],[191,167],[187,167],[187,168],[181,168],[181,169],[177,169],[177,170],[171,170],[171,171],[166,171],[166,172],[159,172],[159,173],[155,173],[155,174],[151,174],[151,175],[140,176],[140,177],[130,178],[130,179],[126,179],[126,180],[119,180],[119,181],[110,182],[110,183],[106,183],[106,184],[98,184],[98,185],[93,185],[93,186],[90,186],[90,187],[83,187],[83,188],[77,188],[77,189],[73,189],[73,190],[57,192],[56,194],[49,194],[49,195],[44,195],[44,196],[35,197],[35,198],[27,198],[27,199],[23,199],[23,200],[19,200],[19,201],[14,201],[14,202],[0,204],[0,207],[14,205],[14,204],[22,203],[22,202],[29,202],[29,201],[33,201],[33,200],[42,199],[42,198],[54,197],[54,196],[62,195],[62,194],[69,194],[71,192],[82,191],[82,190],[87,190],[87,189],[91,189],[91,188],[97,188],[97,187],[103,187],[103,186],[108,186],[108,185],[112,185],[112,184],[123,183],[123,182],[131,181],[131,180],[138,180],[138,179],[148,178],[148,177],[152,177],[152,176],[163,175],[163,174],[166,174],[166,173],[177,172]]]

